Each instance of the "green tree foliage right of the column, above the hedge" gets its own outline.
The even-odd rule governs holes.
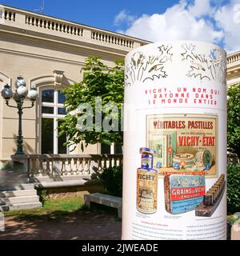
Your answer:
[[[240,84],[227,90],[227,144],[240,155]]]

